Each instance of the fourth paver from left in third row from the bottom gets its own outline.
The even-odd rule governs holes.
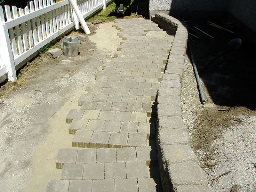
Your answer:
[[[116,148],[117,162],[137,161],[135,147]]]

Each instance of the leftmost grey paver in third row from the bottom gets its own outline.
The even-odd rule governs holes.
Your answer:
[[[76,163],[77,149],[60,148],[56,158],[56,168],[62,169],[65,163]]]

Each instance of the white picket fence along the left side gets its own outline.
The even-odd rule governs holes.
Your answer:
[[[113,0],[77,0],[84,18]],[[25,9],[0,6],[0,83],[15,81],[16,69],[32,59],[42,47],[74,27],[79,21],[68,0],[34,0]],[[16,69],[15,69],[16,67]]]

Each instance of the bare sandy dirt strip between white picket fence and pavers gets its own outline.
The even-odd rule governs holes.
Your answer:
[[[77,100],[84,85],[113,57],[120,42],[112,23],[90,30],[78,57],[42,54],[21,70],[16,83],[2,84],[0,191],[45,191],[48,180],[60,180],[56,155],[59,148],[71,148],[73,138],[65,117],[70,109],[80,108]]]

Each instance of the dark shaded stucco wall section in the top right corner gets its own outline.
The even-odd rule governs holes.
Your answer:
[[[229,0],[228,13],[256,33],[256,1]]]

